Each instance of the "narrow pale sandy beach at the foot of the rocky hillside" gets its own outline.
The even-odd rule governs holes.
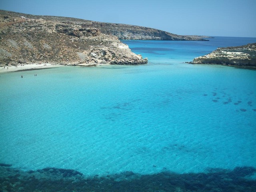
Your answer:
[[[24,64],[18,66],[3,66],[0,67],[0,74],[10,73],[10,72],[20,72],[20,71],[30,71],[30,70],[40,70],[47,68],[56,68],[60,66],[81,66],[81,67],[92,67],[92,66],[101,66],[101,65],[110,65],[110,64],[50,64],[50,63],[42,63],[42,64]]]

